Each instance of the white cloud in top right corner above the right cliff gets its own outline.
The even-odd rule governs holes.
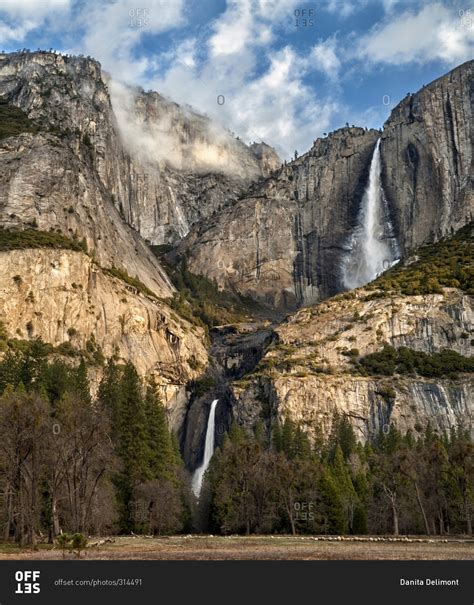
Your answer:
[[[356,51],[359,59],[394,65],[432,60],[452,65],[473,54],[474,29],[463,27],[458,12],[439,3],[392,15],[363,36]]]

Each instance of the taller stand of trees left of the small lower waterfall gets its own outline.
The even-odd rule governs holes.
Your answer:
[[[182,529],[187,482],[156,384],[110,360],[92,398],[84,360],[48,352],[33,341],[0,362],[3,539]]]

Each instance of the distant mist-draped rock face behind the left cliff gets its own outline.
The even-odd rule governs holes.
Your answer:
[[[179,241],[190,226],[242,196],[281,165],[264,143],[247,147],[189,107],[156,92],[109,82],[118,131],[137,187],[120,201],[127,222],[152,244]],[[130,186],[129,186],[130,189]],[[127,203],[128,202],[128,203]]]

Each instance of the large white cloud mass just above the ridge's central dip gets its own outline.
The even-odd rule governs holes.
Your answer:
[[[206,111],[245,142],[264,140],[289,157],[295,147],[306,151],[329,128],[337,109],[335,101],[319,99],[304,84],[309,66],[287,46],[268,53],[266,69],[255,76],[255,55],[247,48],[235,56],[210,55],[200,71],[175,64],[152,88]],[[224,95],[223,105],[218,95]]]

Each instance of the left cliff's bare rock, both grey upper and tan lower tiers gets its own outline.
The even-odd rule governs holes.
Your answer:
[[[71,341],[76,349],[93,336],[106,357],[118,352],[141,374],[156,374],[177,429],[186,385],[207,364],[204,334],[160,302],[174,288],[119,211],[133,199],[138,173],[128,169],[99,64],[52,53],[0,55],[0,97],[39,125],[0,141],[1,226],[59,231],[84,239],[89,252],[1,253],[8,335]],[[106,273],[114,267],[154,296]]]

